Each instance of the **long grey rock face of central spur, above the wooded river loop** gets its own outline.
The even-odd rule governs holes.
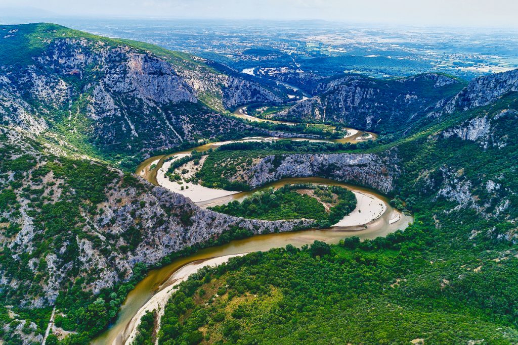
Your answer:
[[[396,151],[377,154],[285,154],[266,156],[238,172],[232,181],[255,188],[283,177],[321,176],[368,186],[383,193],[394,189],[400,174]]]

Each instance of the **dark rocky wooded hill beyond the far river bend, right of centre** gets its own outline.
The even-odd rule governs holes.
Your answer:
[[[450,83],[436,87],[437,78],[444,78]],[[319,83],[336,83],[339,86],[329,87],[327,91],[324,89],[319,95],[320,101],[311,104],[314,108],[312,111],[307,111],[310,105],[307,104],[306,107],[293,107],[271,118],[279,121],[318,122],[322,116],[316,114],[325,112],[326,123],[368,129],[381,134],[407,136],[410,130],[420,131],[425,125],[440,122],[441,120],[438,121],[434,116],[425,115],[433,112],[438,107],[438,102],[451,99],[466,86],[465,81],[442,73],[424,73],[408,78],[390,79],[341,74]],[[358,103],[351,108],[343,107],[344,88],[359,93],[356,96]],[[359,96],[364,93],[373,93],[375,96]],[[411,97],[413,101],[401,101],[405,97]],[[427,110],[423,111],[424,109]],[[366,118],[370,118],[372,124],[368,124]]]

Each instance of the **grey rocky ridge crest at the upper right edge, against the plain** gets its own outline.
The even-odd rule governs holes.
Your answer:
[[[487,106],[510,92],[518,92],[518,69],[472,80],[446,104],[444,111],[453,113],[457,109]]]

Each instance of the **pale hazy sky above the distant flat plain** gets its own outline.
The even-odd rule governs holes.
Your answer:
[[[31,17],[44,9],[64,16],[518,27],[518,0],[0,0],[4,14],[20,8]]]

